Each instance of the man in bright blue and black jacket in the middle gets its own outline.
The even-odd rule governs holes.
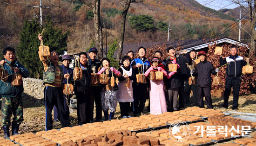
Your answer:
[[[135,69],[135,74],[143,74],[149,69],[150,62],[148,58],[145,57],[146,49],[144,47],[139,47],[138,49],[139,58],[132,61],[131,67]],[[134,83],[133,93],[134,93],[134,115],[138,115],[143,112],[145,107],[147,92],[148,92],[148,78],[146,78],[147,83]],[[140,105],[139,105],[140,103]]]

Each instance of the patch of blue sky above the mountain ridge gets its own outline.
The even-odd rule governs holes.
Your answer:
[[[233,9],[238,6],[228,0],[196,0],[196,1],[203,6],[207,6],[215,10],[219,10],[223,8]]]

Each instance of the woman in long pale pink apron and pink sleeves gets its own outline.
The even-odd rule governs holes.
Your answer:
[[[160,62],[158,57],[154,57],[150,62],[150,65],[151,67],[145,72],[146,77],[148,77],[151,71],[162,71],[163,76],[172,76],[172,74],[167,75],[167,72],[163,69],[163,64]],[[167,112],[163,80],[150,80],[149,95],[150,114],[162,114]]]

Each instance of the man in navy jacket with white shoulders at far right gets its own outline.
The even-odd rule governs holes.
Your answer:
[[[243,60],[243,57],[238,56],[237,54],[237,47],[231,46],[230,47],[230,56],[226,58],[222,58],[220,52],[217,52],[217,55],[220,57],[220,65],[224,65],[228,63],[226,68],[226,88],[224,91],[224,102],[222,107],[228,108],[229,107],[229,95],[231,91],[231,87],[233,87],[233,110],[237,110],[238,107],[238,98],[239,98],[239,91],[241,85],[241,75],[242,75],[242,68],[246,65],[246,61]]]

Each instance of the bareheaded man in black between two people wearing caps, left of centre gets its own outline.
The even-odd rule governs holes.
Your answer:
[[[74,93],[77,99],[77,119],[78,124],[83,125],[90,122],[90,86],[91,80],[88,70],[86,52],[79,53],[80,63],[78,64],[83,70],[81,80],[75,81]],[[77,66],[77,65],[74,65]],[[75,76],[75,75],[74,75]]]

